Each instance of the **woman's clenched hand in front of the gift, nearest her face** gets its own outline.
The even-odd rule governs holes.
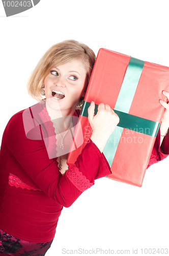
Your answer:
[[[102,152],[109,136],[115,130],[120,119],[118,115],[110,109],[109,105],[100,103],[96,115],[94,114],[94,110],[95,103],[92,101],[88,109],[88,119],[93,130],[91,140],[96,144],[100,152]]]

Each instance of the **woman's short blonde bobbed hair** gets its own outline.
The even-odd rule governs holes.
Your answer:
[[[36,100],[42,100],[44,79],[51,68],[65,64],[74,59],[80,59],[87,71],[88,82],[92,73],[96,56],[87,45],[76,40],[65,40],[51,46],[39,60],[27,82],[27,91]]]

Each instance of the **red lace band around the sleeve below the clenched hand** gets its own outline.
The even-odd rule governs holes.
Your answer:
[[[66,176],[69,178],[69,180],[75,185],[75,187],[78,188],[80,191],[85,191],[86,189],[93,186],[94,183],[91,183],[86,176],[84,176],[81,172],[79,172],[79,169],[76,167],[75,164],[73,164],[68,171],[66,172]]]

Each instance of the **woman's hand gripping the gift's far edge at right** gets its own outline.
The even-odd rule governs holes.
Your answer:
[[[162,93],[169,100],[169,92],[163,91]],[[161,134],[160,145],[161,145],[164,135],[167,133],[167,130],[169,127],[169,103],[166,103],[161,99],[160,99],[160,103],[165,108],[164,115],[162,117],[161,124],[160,124],[160,134]]]

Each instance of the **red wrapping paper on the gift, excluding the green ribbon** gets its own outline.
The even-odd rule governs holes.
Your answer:
[[[95,104],[109,104],[115,108],[122,82],[130,61],[130,56],[100,49],[86,92],[85,101]],[[164,108],[159,99],[166,101],[162,91],[169,90],[169,68],[145,61],[129,114],[160,122]],[[67,163],[72,165],[92,134],[88,118],[79,116],[83,131],[83,144],[69,153]],[[75,135],[81,130],[76,127]],[[142,186],[145,171],[150,159],[155,137],[123,129],[118,148],[112,161],[110,179]],[[112,143],[113,146],[113,143]]]

